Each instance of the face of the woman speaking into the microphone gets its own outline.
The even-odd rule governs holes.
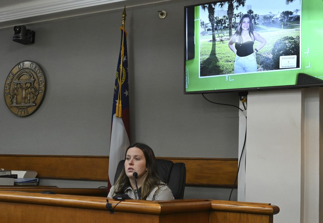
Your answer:
[[[145,175],[145,171],[148,171],[148,168],[146,168],[146,158],[141,149],[137,147],[128,149],[124,169],[129,178],[133,177],[132,174],[134,172],[137,172],[139,179]]]

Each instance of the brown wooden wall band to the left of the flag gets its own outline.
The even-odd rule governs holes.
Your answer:
[[[107,180],[107,156],[1,155],[1,168],[35,170],[39,178]]]

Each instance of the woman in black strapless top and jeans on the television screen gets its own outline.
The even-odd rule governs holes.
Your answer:
[[[234,73],[256,72],[256,53],[266,44],[266,39],[254,31],[251,21],[252,19],[249,14],[242,15],[237,31],[232,35],[228,44],[229,48],[236,55]],[[255,40],[260,42],[256,48],[254,48]]]

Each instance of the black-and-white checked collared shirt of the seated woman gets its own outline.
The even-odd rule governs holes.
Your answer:
[[[160,182],[160,183],[164,184],[163,182]],[[115,186],[112,186],[108,197],[113,197],[116,195],[114,193],[114,189],[115,189]],[[127,194],[131,199],[135,199],[135,200],[139,199],[137,189],[132,190],[131,186],[129,186],[124,191],[124,193]],[[174,199],[173,193],[172,193],[171,189],[169,188],[169,186],[167,186],[166,184],[159,185],[159,188],[158,188],[158,185],[156,185],[154,187],[154,189],[150,192],[150,194],[146,197],[146,200],[148,200],[148,201],[173,200],[173,199]]]

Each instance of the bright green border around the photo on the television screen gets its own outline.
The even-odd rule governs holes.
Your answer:
[[[323,62],[321,60],[321,42],[323,39],[323,29],[321,28],[323,23],[322,0],[302,2],[300,38],[301,69],[256,72],[206,78],[199,78],[199,10],[199,6],[194,7],[195,56],[194,59],[186,60],[185,92],[295,85],[298,73],[305,73],[323,80]],[[308,48],[308,56],[303,57],[306,55],[304,52],[307,52]],[[310,67],[305,68],[309,66],[309,63]],[[226,80],[226,78],[230,78],[234,81]]]

